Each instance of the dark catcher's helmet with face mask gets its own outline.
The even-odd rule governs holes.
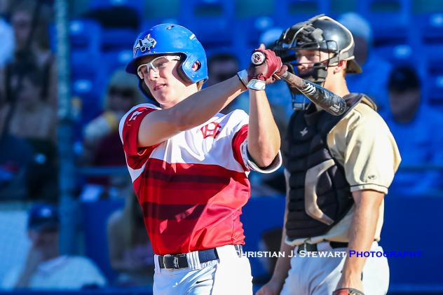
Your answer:
[[[335,66],[341,60],[347,60],[346,72],[361,73],[362,69],[355,62],[354,39],[350,31],[336,20],[326,15],[316,15],[306,22],[299,22],[282,32],[273,48],[287,65],[288,70],[301,78],[323,85],[327,77],[327,68]],[[300,51],[304,50],[304,51]],[[329,53],[329,57],[320,60],[320,52]],[[303,54],[301,54],[303,53]],[[303,64],[313,64],[308,71],[299,71]],[[304,109],[306,102],[299,102],[300,92],[291,88],[294,109]]]

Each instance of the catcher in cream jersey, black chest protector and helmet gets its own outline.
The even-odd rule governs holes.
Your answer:
[[[386,257],[364,252],[382,251],[383,198],[400,154],[374,103],[346,86],[346,74],[361,72],[353,49],[348,29],[324,15],[289,27],[278,40],[275,50],[292,71],[345,98],[347,107],[332,116],[308,104],[290,119],[282,148],[287,207],[281,251],[294,256],[278,259],[257,295],[388,291]],[[343,251],[358,254],[306,255]]]

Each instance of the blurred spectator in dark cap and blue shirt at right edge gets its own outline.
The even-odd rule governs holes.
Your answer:
[[[423,167],[443,165],[442,114],[422,101],[421,81],[413,67],[393,69],[388,85],[390,110],[386,114],[386,123],[402,155],[402,164],[390,193],[400,196],[441,195],[443,172],[423,170]],[[422,168],[402,169],[411,166]]]

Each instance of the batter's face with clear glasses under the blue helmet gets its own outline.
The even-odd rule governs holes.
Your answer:
[[[145,64],[159,55],[143,57],[138,64]],[[144,83],[163,108],[172,107],[197,90],[196,84],[183,81],[178,74],[179,60],[165,62],[157,70],[149,70],[143,77]]]

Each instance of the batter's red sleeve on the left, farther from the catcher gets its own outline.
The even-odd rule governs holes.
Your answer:
[[[137,147],[137,137],[140,124],[145,116],[156,111],[154,107],[137,106],[128,111],[120,121],[119,133],[123,143],[123,151],[125,151],[126,162],[132,169],[139,169],[146,162],[151,152],[158,146],[146,146],[144,148]]]

